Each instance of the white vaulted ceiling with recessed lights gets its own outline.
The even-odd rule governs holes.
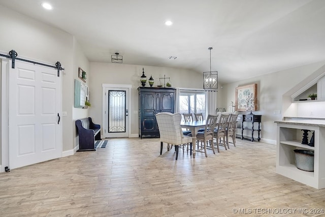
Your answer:
[[[228,83],[325,60],[323,0],[0,0],[74,35],[90,61],[218,71]],[[173,21],[166,26],[165,21]],[[177,59],[169,59],[176,56]]]

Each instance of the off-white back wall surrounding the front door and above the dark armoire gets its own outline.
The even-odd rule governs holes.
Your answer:
[[[144,74],[148,79],[152,75],[155,83],[153,86],[158,85],[159,78],[170,77],[173,87],[191,87],[203,88],[203,75],[190,70],[167,68],[167,67],[150,67],[138,65],[125,65],[125,64],[108,64],[108,63],[90,63],[91,79],[89,85],[90,103],[89,115],[93,117],[95,123],[103,126],[102,121],[102,84],[131,84],[132,85],[132,105],[129,108],[131,115],[131,134],[138,135],[139,133],[139,96],[138,87],[141,86],[140,76],[142,75],[142,68]],[[166,80],[167,82],[168,80]],[[102,132],[103,134],[103,132]]]

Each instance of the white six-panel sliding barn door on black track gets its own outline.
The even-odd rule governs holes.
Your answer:
[[[17,60],[9,67],[10,168],[61,157],[61,75]]]

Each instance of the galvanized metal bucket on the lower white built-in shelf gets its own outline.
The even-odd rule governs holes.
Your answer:
[[[314,171],[314,151],[295,149],[296,166],[300,170]]]

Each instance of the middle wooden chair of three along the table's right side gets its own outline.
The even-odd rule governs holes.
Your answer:
[[[226,129],[228,128],[228,121],[229,121],[229,116],[230,114],[223,114],[219,113],[218,114],[218,122],[217,125],[215,126],[213,137],[216,139],[216,146],[217,150],[219,152],[219,145],[223,145],[224,148],[227,150],[227,144],[226,144]],[[221,144],[221,138],[223,143]]]

